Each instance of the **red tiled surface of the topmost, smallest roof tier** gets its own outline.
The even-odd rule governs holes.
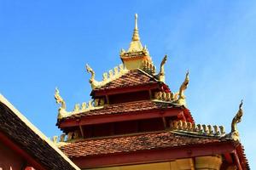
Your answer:
[[[125,88],[125,87],[133,87],[139,86],[143,84],[150,84],[158,82],[154,77],[149,75],[148,73],[137,70],[131,70],[125,73],[125,75],[113,80],[112,82],[108,82],[101,88],[96,88],[97,90],[106,90],[106,89],[113,89],[113,88]]]

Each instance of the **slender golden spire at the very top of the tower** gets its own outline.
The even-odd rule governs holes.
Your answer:
[[[142,50],[143,50],[143,45],[140,42],[140,37],[137,29],[137,14],[135,14],[135,26],[134,26],[133,35],[131,38],[130,48],[128,49],[127,52],[138,52]]]

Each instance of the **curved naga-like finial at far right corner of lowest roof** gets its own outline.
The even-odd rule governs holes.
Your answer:
[[[240,103],[240,105],[239,105],[239,109],[238,109],[238,111],[237,111],[237,113],[236,113],[236,116],[233,118],[233,120],[232,120],[232,123],[231,123],[231,132],[229,133],[229,136],[232,138],[232,139],[234,139],[235,141],[236,140],[240,140],[240,138],[239,138],[239,133],[238,133],[238,130],[237,130],[237,127],[236,127],[236,125],[237,125],[237,123],[239,123],[239,122],[241,122],[241,116],[243,115],[243,111],[242,111],[242,108],[241,108],[241,106],[242,106],[242,100],[241,100],[241,103]]]

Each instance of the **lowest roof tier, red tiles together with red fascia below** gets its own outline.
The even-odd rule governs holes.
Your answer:
[[[188,136],[162,131],[102,139],[84,139],[61,146],[79,167],[111,167],[172,161],[197,156],[233,154],[239,145],[225,137]],[[247,161],[240,158],[247,169]]]

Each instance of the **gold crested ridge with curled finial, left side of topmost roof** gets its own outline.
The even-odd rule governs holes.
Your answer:
[[[101,88],[108,82],[111,82],[111,81],[123,76],[125,73],[128,72],[125,65],[120,64],[119,66],[115,66],[112,70],[110,70],[108,72],[104,72],[102,75],[102,81],[98,82],[95,79],[95,71],[93,71],[90,68],[90,65],[86,64],[86,70],[87,70],[87,72],[90,73],[89,82],[90,82],[90,86],[92,89]]]

